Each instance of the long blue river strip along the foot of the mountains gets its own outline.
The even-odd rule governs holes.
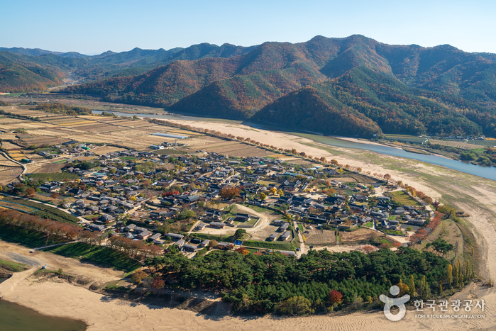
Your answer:
[[[93,111],[93,113],[99,114],[101,111]],[[482,167],[475,164],[465,163],[461,161],[456,161],[454,159],[447,159],[446,157],[439,157],[436,155],[421,155],[417,153],[407,152],[405,150],[388,147],[384,145],[372,145],[365,144],[362,142],[351,142],[348,140],[338,139],[329,137],[326,135],[314,135],[311,133],[297,133],[292,132],[291,130],[285,130],[284,128],[276,128],[270,125],[260,125],[258,123],[249,123],[243,122],[241,120],[224,120],[221,118],[204,118],[204,117],[194,117],[194,116],[184,116],[177,115],[171,113],[164,114],[143,114],[143,113],[119,113],[115,111],[107,111],[107,113],[114,113],[116,116],[133,116],[136,115],[138,117],[148,117],[148,118],[163,118],[167,120],[192,120],[192,121],[209,121],[209,122],[223,122],[223,123],[238,123],[244,124],[248,126],[252,126],[254,128],[260,128],[265,130],[272,131],[280,131],[284,133],[288,133],[291,135],[297,135],[299,137],[308,138],[310,140],[314,140],[315,142],[320,142],[325,145],[331,145],[336,147],[346,147],[346,148],[356,148],[359,150],[370,150],[372,152],[377,152],[385,155],[392,155],[396,157],[406,157],[407,159],[417,159],[422,162],[440,165],[449,169],[457,170],[458,172],[465,172],[466,174],[473,174],[475,176],[484,177],[487,179],[496,180],[496,168],[495,167]]]

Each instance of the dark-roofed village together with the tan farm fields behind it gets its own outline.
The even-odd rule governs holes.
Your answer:
[[[434,215],[390,176],[219,132],[28,106],[5,115],[9,194],[57,206],[84,230],[165,252],[195,257],[242,246],[299,257],[307,249],[409,245]],[[0,200],[2,208],[23,204]]]

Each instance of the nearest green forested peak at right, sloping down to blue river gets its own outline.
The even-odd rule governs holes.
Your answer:
[[[357,114],[362,115],[361,117]],[[270,103],[253,120],[335,135],[379,133],[495,135],[495,112],[449,94],[409,87],[365,67],[304,87]],[[339,118],[343,127],[334,125]],[[346,118],[346,120],[343,120]],[[353,128],[349,125],[353,124]]]

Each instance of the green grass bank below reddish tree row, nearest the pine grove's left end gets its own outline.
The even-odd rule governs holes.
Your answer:
[[[106,264],[109,267],[114,267],[128,272],[141,267],[137,261],[127,257],[121,252],[117,252],[109,247],[88,245],[84,242],[75,242],[74,244],[50,247],[43,249],[43,251],[62,255],[63,257],[74,257],[81,259],[81,262],[87,261]]]

